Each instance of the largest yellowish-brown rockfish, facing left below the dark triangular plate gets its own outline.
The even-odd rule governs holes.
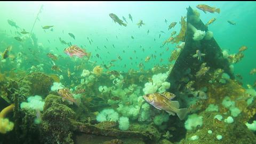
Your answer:
[[[146,94],[143,98],[150,104],[153,105],[155,108],[159,110],[164,110],[165,112],[175,115],[178,115],[180,120],[183,120],[188,114],[188,108],[181,108],[179,101],[172,101],[175,97],[174,94],[171,92],[163,92],[161,94],[154,93],[154,94]]]

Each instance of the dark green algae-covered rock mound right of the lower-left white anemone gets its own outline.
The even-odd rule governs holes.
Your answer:
[[[62,104],[61,97],[48,95],[45,98],[44,113],[42,116],[43,143],[74,143],[72,140],[72,125],[75,112]]]

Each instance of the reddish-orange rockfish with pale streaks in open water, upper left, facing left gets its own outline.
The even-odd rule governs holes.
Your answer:
[[[88,57],[88,59],[91,55],[91,53],[86,53],[82,48],[79,48],[76,45],[72,45],[68,48],[65,48],[64,53],[71,56],[71,57],[74,56],[74,55],[78,56],[80,58],[82,58],[83,56],[86,56],[86,57]]]

